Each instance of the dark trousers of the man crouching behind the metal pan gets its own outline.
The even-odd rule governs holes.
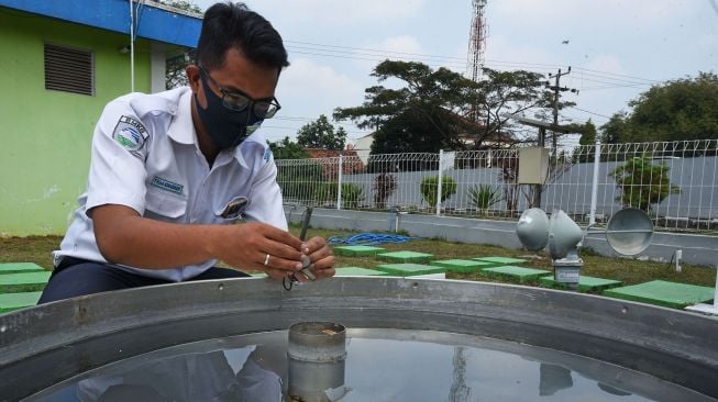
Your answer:
[[[247,273],[234,269],[212,267],[188,280],[195,281],[246,277],[248,277]],[[43,294],[40,297],[37,304],[111,290],[166,283],[174,282],[165,279],[150,278],[132,273],[102,263],[65,257],[63,258],[62,264],[55,268],[49,277],[49,281],[43,290]]]

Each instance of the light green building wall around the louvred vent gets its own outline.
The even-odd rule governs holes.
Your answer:
[[[45,90],[44,43],[91,51],[95,96]],[[85,190],[104,104],[130,92],[126,35],[0,8],[0,235],[63,234]],[[148,92],[151,48],[139,41],[135,91]]]

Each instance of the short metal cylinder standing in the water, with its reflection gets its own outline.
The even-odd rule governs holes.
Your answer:
[[[289,397],[291,401],[330,402],[344,394],[346,328],[331,322],[289,327]]]

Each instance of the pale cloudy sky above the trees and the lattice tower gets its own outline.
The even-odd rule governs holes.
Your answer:
[[[195,0],[207,9],[214,1]],[[269,141],[295,138],[335,108],[362,104],[386,58],[467,71],[471,0],[247,0],[281,34],[291,65],[263,125]],[[488,0],[486,66],[549,75],[559,69],[563,122],[600,126],[665,80],[718,72],[718,0]],[[567,43],[566,43],[567,42]],[[553,82],[553,79],[552,79]],[[398,82],[387,82],[396,86]],[[528,115],[528,118],[533,118]],[[349,142],[368,134],[334,122]]]

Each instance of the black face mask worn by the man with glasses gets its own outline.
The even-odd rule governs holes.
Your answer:
[[[195,105],[197,114],[205,124],[207,133],[212,143],[220,148],[227,149],[240,145],[246,137],[252,135],[263,120],[254,116],[250,108],[241,112],[224,108],[222,98],[218,97],[207,85],[207,79],[201,77],[202,88],[205,89],[205,99],[207,99],[207,109],[202,109],[199,103],[197,93],[195,93]]]

